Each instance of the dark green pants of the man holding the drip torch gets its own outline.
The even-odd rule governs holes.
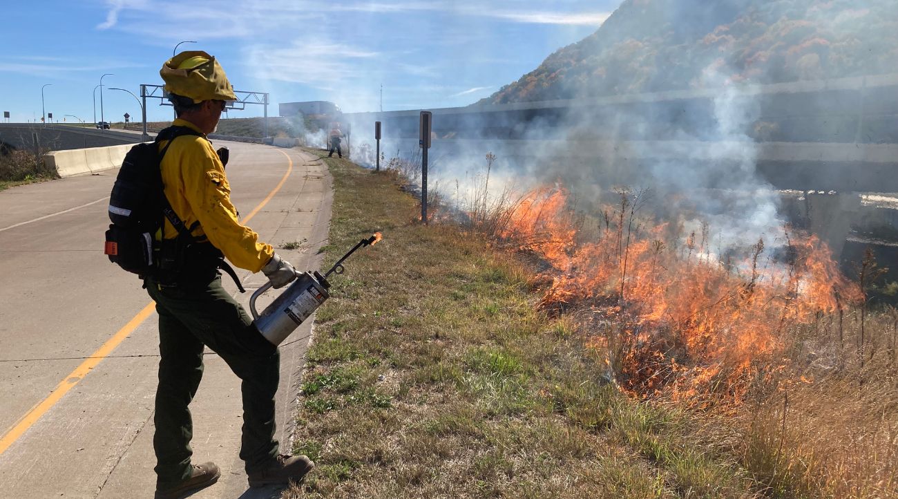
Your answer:
[[[188,405],[203,377],[203,347],[216,352],[242,380],[243,428],[240,458],[247,472],[277,456],[275,394],[280,357],[243,307],[222,288],[221,277],[206,285],[146,290],[159,314],[159,387],[153,446],[157,484],[178,484],[190,476],[193,422]]]

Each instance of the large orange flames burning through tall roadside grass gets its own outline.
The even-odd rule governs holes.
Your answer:
[[[762,241],[725,263],[704,236],[683,237],[668,223],[646,228],[644,220],[634,231],[621,207],[605,213],[595,240],[578,242],[583,222],[567,209],[567,192],[541,189],[508,214],[499,237],[550,264],[542,308],[587,309],[613,329],[612,338],[589,344],[607,352],[624,388],[644,396],[722,390],[738,398],[749,375],[782,352],[790,325],[861,299],[815,236],[788,233],[785,263],[771,262]]]

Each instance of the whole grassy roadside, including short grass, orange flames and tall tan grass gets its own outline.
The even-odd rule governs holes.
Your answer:
[[[384,239],[316,316],[285,497],[896,496],[898,314],[813,238],[721,257],[559,190],[425,227],[396,171],[328,163],[328,257]]]

